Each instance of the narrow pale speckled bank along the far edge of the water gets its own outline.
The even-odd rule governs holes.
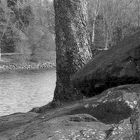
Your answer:
[[[51,62],[24,62],[24,63],[10,63],[0,62],[0,73],[8,71],[22,71],[22,70],[40,70],[40,69],[53,69],[55,63]]]

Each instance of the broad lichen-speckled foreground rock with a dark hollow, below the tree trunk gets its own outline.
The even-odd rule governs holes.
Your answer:
[[[140,84],[111,88],[94,98],[50,110],[21,126],[7,128],[0,132],[0,139],[132,140],[133,134],[139,133],[135,131],[140,122],[139,115],[135,115],[139,97]]]

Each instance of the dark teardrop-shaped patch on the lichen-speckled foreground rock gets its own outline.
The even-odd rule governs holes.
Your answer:
[[[96,107],[81,107],[69,112],[68,115],[89,114],[105,124],[117,124],[130,117],[131,113],[132,109],[124,101],[114,101],[100,103]]]

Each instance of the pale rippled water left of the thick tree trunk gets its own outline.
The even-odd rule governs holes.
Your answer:
[[[0,116],[27,112],[53,99],[55,70],[0,74]]]

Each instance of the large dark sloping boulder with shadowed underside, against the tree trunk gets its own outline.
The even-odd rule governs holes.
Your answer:
[[[118,85],[140,83],[140,32],[95,56],[72,81],[85,96]]]

